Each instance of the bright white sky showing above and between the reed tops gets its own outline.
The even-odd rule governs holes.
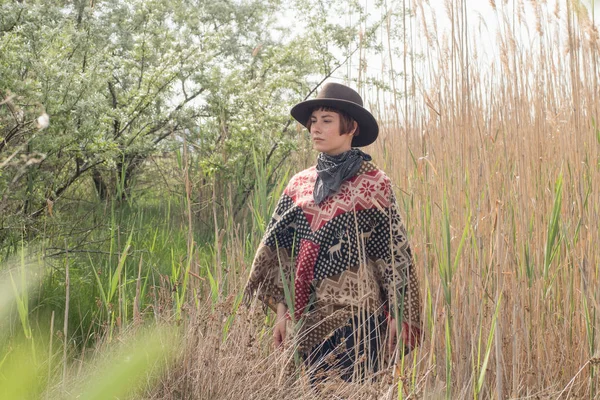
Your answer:
[[[377,2],[383,2],[387,4],[390,9],[395,7],[401,7],[406,4],[407,7],[421,5],[422,7],[416,7],[416,14],[411,19],[410,28],[407,36],[409,37],[409,49],[415,54],[421,56],[421,60],[415,63],[414,71],[410,68],[410,63],[407,65],[407,69],[403,67],[403,57],[401,54],[397,54],[392,57],[393,70],[398,73],[406,72],[408,76],[416,76],[419,81],[420,90],[428,90],[431,87],[431,82],[428,81],[429,74],[426,73],[427,68],[438,68],[437,57],[439,55],[439,48],[434,50],[428,49],[427,41],[425,39],[423,30],[423,21],[426,21],[427,26],[431,30],[433,26],[437,30],[437,38],[442,40],[444,36],[446,38],[450,35],[451,23],[448,16],[447,5],[456,5],[459,0],[356,0],[365,9],[370,12],[371,23],[381,18],[383,11],[377,10],[373,5]],[[464,0],[467,21],[468,21],[468,35],[469,35],[469,48],[470,54],[472,55],[472,49],[477,50],[477,63],[479,70],[485,73],[486,69],[489,70],[490,66],[494,63],[498,63],[500,60],[500,46],[498,43],[498,30],[506,29],[506,24],[512,25],[517,24],[517,28],[511,28],[511,31],[516,32],[517,42],[519,46],[523,48],[533,48],[532,46],[539,46],[540,37],[536,29],[536,13],[535,5],[538,4],[542,9],[543,18],[546,20],[542,21],[542,26],[546,26],[544,30],[545,40],[549,43],[553,43],[555,36],[560,35],[562,37],[561,42],[563,45],[566,42],[567,21],[566,21],[566,4],[567,2],[574,4],[580,2],[582,6],[588,9],[590,18],[595,21],[595,25],[600,25],[600,0]],[[555,15],[556,6],[558,3],[558,18]],[[327,2],[325,2],[327,4]],[[492,6],[495,5],[496,9]],[[521,23],[518,23],[518,13],[514,10],[518,10],[521,7]],[[339,13],[331,12],[331,22],[340,22],[346,26],[354,26],[357,21],[357,17],[351,14],[340,15]],[[283,26],[290,27],[293,30],[302,29],[302,23],[297,18],[294,12],[290,11],[289,14],[281,20]],[[385,43],[385,29],[381,29],[380,38]],[[506,38],[507,35],[501,35]],[[443,40],[442,40],[443,41]],[[564,50],[564,48],[557,49]],[[560,54],[560,53],[557,53]],[[345,58],[344,54],[337,56],[339,60]],[[363,54],[362,59],[366,60],[366,76],[382,81],[384,84],[391,86],[391,78],[389,74],[390,70],[390,57],[387,50],[384,49],[382,53]],[[474,61],[471,60],[471,63]],[[359,54],[358,52],[343,65],[335,74],[328,79],[328,81],[334,81],[350,86],[359,90],[363,97],[370,97],[375,93],[376,89],[371,85],[365,85],[357,87],[357,80],[359,77],[358,73],[359,65]],[[361,82],[364,82],[365,74],[361,73]],[[321,76],[315,76],[315,81],[320,81]],[[402,78],[400,78],[402,81]],[[326,81],[327,82],[327,81]],[[398,85],[398,81],[396,81]],[[400,85],[402,85],[400,83]],[[400,88],[396,90],[401,91]],[[369,93],[370,92],[370,93]],[[384,97],[391,96],[392,92],[383,94]]]

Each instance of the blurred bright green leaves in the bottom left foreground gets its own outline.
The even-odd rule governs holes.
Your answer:
[[[3,277],[0,287],[5,284]],[[0,307],[3,314],[10,304],[3,301]],[[5,329],[6,325],[0,327],[0,335]],[[128,336],[122,338],[122,343],[98,352],[83,374],[70,379],[59,373],[62,365],[53,365],[55,353],[51,341],[44,341],[40,346],[44,351],[36,352],[32,337],[15,335],[10,345],[0,347],[0,397],[6,400],[131,397],[170,365],[179,348],[179,338],[174,328],[160,326]]]

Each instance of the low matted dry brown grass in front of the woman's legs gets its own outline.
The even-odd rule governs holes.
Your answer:
[[[272,350],[272,332],[262,308],[243,307],[226,327],[234,296],[212,309],[198,308],[190,323],[177,366],[148,397],[153,399],[365,399],[396,398],[394,371],[387,368],[373,382],[347,384],[333,378],[311,387],[293,349]],[[212,309],[212,311],[211,311]],[[226,337],[223,332],[227,331]]]

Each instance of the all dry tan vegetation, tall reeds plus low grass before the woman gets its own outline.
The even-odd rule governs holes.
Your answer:
[[[411,46],[427,62],[409,60],[405,101],[368,93],[381,115],[399,116],[370,150],[397,186],[424,299],[425,339],[402,370],[403,396],[600,398],[597,27],[578,1],[532,2],[525,40],[522,2],[491,1],[500,33],[483,62],[482,22],[466,20],[462,1],[447,2],[450,36],[427,2],[406,3],[421,38]],[[244,234],[227,235],[227,259],[246,276]],[[447,294],[440,266],[452,272]],[[227,291],[242,287],[232,279]],[[391,370],[318,394],[302,373],[285,378],[289,353],[271,350],[261,310],[238,310],[222,340],[234,298],[198,309],[153,398],[398,398]]]

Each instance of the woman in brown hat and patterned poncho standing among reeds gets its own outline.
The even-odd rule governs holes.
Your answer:
[[[290,180],[256,252],[245,289],[277,312],[274,343],[295,344],[313,381],[362,379],[392,352],[420,341],[420,301],[392,185],[356,147],[377,138],[360,95],[337,83],[301,102],[317,165]]]

